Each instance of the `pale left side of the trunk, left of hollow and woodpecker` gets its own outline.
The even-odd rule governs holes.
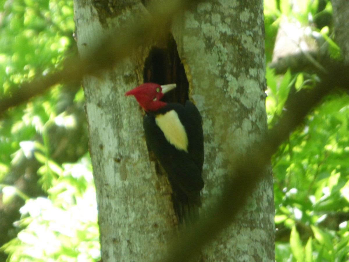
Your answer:
[[[144,6],[131,2],[114,6],[119,14],[107,19],[109,13],[98,13],[101,7],[96,9],[95,1],[74,1],[82,58],[108,29],[125,26],[122,21],[129,22],[134,13],[146,14]],[[83,79],[104,262],[155,261],[165,252],[173,231],[170,187],[149,161],[140,107],[124,97],[126,90],[142,82],[139,61],[143,63],[140,53]]]

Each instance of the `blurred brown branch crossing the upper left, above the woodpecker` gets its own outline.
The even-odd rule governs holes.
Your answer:
[[[96,43],[96,48],[85,58],[80,59],[78,56],[69,58],[62,70],[23,83],[20,88],[12,89],[10,95],[0,97],[0,115],[7,109],[28,101],[33,96],[43,94],[53,85],[80,82],[84,74],[95,75],[112,67],[130,56],[142,43],[163,38],[171,17],[176,12],[201,1],[153,1],[154,3],[148,7],[150,15],[142,19],[136,18],[126,29],[108,32],[108,36]]]

